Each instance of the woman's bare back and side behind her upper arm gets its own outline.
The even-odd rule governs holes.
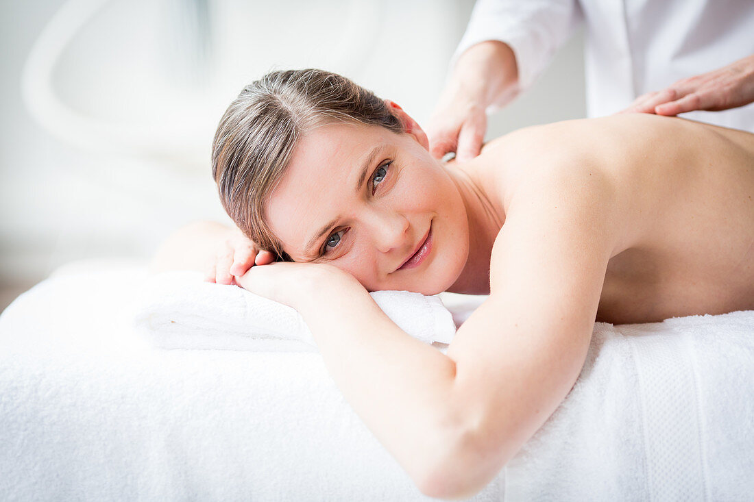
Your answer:
[[[468,173],[494,187],[504,219],[512,194],[557,156],[587,166],[577,181],[606,174],[617,194],[596,320],[754,309],[754,134],[656,115],[566,121],[491,142]]]

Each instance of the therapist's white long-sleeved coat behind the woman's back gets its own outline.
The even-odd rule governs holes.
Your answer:
[[[580,22],[590,117],[754,54],[751,0],[477,0],[453,60],[480,41],[504,41],[526,89]],[[754,132],[754,104],[682,116]]]

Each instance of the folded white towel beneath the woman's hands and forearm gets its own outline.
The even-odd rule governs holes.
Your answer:
[[[437,296],[409,291],[369,294],[394,323],[420,341],[447,344],[455,335],[452,315]],[[204,282],[196,272],[150,277],[136,295],[134,309],[137,331],[157,347],[317,350],[295,309],[238,286]]]

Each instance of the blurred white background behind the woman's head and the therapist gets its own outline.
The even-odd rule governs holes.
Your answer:
[[[210,175],[225,107],[271,69],[320,67],[424,124],[473,0],[0,0],[0,310],[78,259],[149,259],[229,222]],[[488,139],[584,111],[578,33]]]

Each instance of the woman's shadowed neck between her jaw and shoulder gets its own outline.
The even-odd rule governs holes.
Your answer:
[[[445,169],[466,207],[469,228],[469,254],[461,274],[448,288],[449,292],[467,295],[489,295],[489,262],[492,245],[505,222],[502,208],[492,204],[492,197],[486,194],[474,170],[469,164],[445,164]]]

